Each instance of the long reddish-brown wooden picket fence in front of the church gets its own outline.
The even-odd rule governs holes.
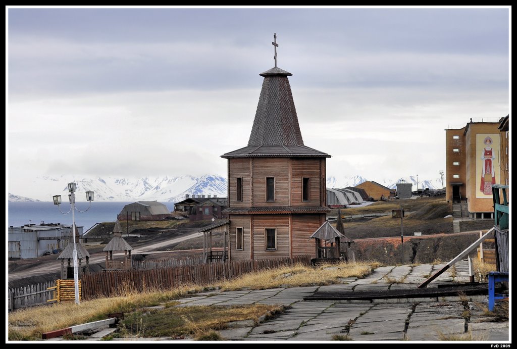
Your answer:
[[[248,272],[301,263],[311,264],[309,255],[269,260],[246,260],[183,265],[142,270],[105,270],[81,278],[84,299],[110,297],[125,291],[166,290],[184,284],[209,284],[230,280]]]

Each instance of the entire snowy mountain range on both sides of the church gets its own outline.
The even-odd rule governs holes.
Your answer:
[[[359,175],[352,177],[327,178],[327,188],[354,187],[367,178]],[[75,181],[77,184],[76,200],[85,201],[82,198],[87,190],[94,191],[94,201],[160,201],[178,202],[185,199],[185,195],[210,195],[225,197],[227,195],[227,180],[225,177],[207,174],[200,177],[185,175],[178,177],[79,177],[59,176],[37,177],[24,183],[23,189],[17,189],[16,193],[9,193],[11,202],[35,202],[52,201],[53,195],[62,195],[66,200],[68,195],[67,183]],[[416,190],[416,178],[414,176],[402,177],[397,180],[382,179],[377,183],[390,189],[397,188],[397,183],[413,183]],[[441,189],[442,181],[437,179],[423,179],[418,181],[418,188]],[[14,190],[9,190],[14,192]]]

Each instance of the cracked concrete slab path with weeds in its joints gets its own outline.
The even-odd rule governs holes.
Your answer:
[[[280,287],[269,290],[212,291],[180,299],[177,307],[193,305],[281,304],[288,309],[272,320],[221,330],[227,340],[244,341],[436,341],[459,336],[470,340],[508,341],[508,322],[486,322],[482,311],[474,311],[475,302],[485,296],[413,298],[405,301],[325,300],[305,301],[316,291],[386,291],[416,287],[427,275],[444,264],[387,266],[376,268],[363,279],[343,278],[340,284],[309,287]],[[468,262],[455,265],[454,273],[445,272],[438,283],[468,282]],[[488,290],[488,286],[487,286]],[[468,316],[467,316],[468,315]],[[463,337],[462,337],[463,338]]]

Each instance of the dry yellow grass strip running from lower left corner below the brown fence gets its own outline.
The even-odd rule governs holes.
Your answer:
[[[126,292],[118,297],[27,308],[9,313],[8,336],[10,340],[41,339],[41,333],[107,318],[110,313],[133,311],[144,306],[154,306],[188,294],[202,287],[188,285],[170,291],[149,290],[144,293]]]

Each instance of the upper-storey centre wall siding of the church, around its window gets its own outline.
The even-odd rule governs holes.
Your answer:
[[[289,161],[288,158],[253,159],[254,206],[289,205]],[[275,177],[275,202],[266,202],[266,177]]]

